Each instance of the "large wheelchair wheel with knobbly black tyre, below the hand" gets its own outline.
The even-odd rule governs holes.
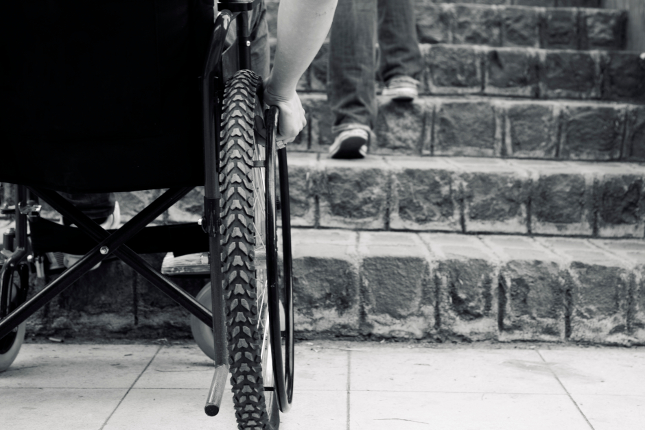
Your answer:
[[[264,176],[253,163],[263,158],[253,131],[259,86],[255,73],[238,71],[226,83],[222,113],[222,278],[233,404],[240,430],[273,430],[280,422],[267,267],[259,258],[266,249]]]

